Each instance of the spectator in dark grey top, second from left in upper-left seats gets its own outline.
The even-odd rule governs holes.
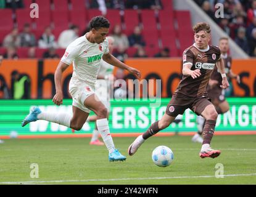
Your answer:
[[[23,31],[20,33],[20,46],[22,47],[34,47],[36,46],[36,38],[31,33],[30,24],[26,23],[23,26]]]

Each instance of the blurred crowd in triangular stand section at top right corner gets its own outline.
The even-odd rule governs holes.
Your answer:
[[[256,57],[256,0],[194,0],[244,52]],[[223,4],[224,18],[215,17]]]

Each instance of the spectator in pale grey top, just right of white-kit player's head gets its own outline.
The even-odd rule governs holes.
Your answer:
[[[118,48],[119,46],[123,47],[123,50],[128,49],[129,41],[126,34],[122,33],[120,25],[115,25],[113,28],[113,34],[111,35],[114,38],[114,47]]]

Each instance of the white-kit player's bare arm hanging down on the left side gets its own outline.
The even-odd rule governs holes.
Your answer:
[[[69,65],[67,65],[64,62],[60,62],[54,73],[56,94],[52,98],[52,102],[54,102],[56,105],[61,105],[63,102],[61,79],[62,79],[62,73],[67,69],[68,66]]]

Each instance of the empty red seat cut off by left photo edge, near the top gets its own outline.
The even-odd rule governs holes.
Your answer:
[[[1,9],[0,11],[0,31],[1,30],[12,30],[14,28],[14,20],[12,19],[11,9]]]

